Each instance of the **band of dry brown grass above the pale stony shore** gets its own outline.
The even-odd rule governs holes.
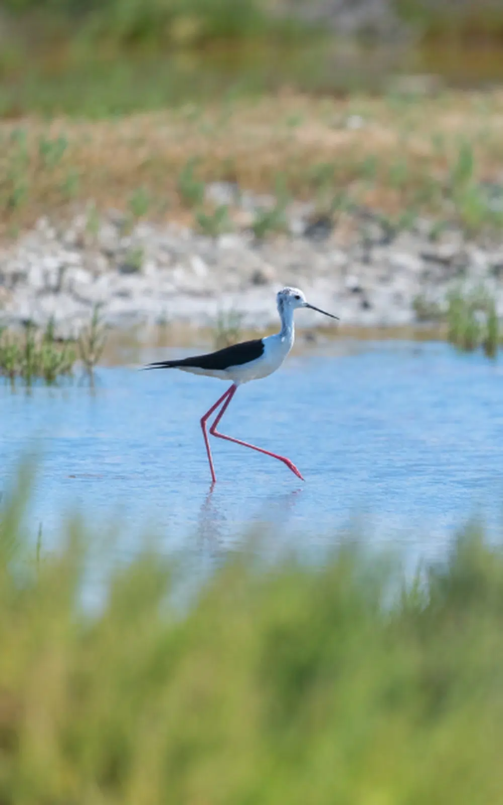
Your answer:
[[[363,119],[361,128],[348,126],[354,116]],[[435,208],[435,188],[445,184],[461,142],[472,147],[478,179],[501,179],[502,130],[501,91],[348,100],[284,93],[117,121],[3,122],[2,234],[41,214],[66,217],[87,200],[126,209],[138,188],[148,196],[148,217],[192,221],[177,184],[194,157],[200,180],[270,192],[282,175],[298,197],[314,196],[316,166],[332,163],[321,171],[325,180],[330,174],[330,192],[348,192],[390,214],[410,204]],[[47,165],[40,142],[58,137],[66,149]]]

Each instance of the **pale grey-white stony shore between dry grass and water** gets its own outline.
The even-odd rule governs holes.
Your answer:
[[[218,198],[226,188],[210,191]],[[369,213],[349,223],[332,228],[313,218],[309,204],[297,204],[289,231],[260,242],[245,226],[208,237],[141,221],[126,233],[113,211],[92,234],[85,213],[60,227],[40,219],[0,249],[0,324],[44,326],[53,317],[60,336],[73,336],[99,304],[113,328],[208,327],[225,312],[241,316],[244,328],[267,328],[277,321],[274,295],[284,285],[355,327],[435,320],[460,283],[483,285],[503,315],[503,242],[475,242],[456,228],[433,239],[423,220],[390,233]],[[298,324],[325,322],[305,312]]]

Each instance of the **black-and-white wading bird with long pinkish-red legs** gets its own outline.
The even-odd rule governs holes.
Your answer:
[[[327,313],[309,304],[303,292],[299,291],[299,288],[283,288],[282,291],[278,291],[276,301],[278,304],[278,313],[281,318],[281,330],[274,336],[257,338],[254,339],[254,341],[242,341],[241,344],[234,344],[233,346],[225,347],[225,349],[219,349],[217,352],[184,357],[179,361],[159,361],[157,363],[150,363],[145,367],[146,369],[182,369],[183,372],[206,374],[210,378],[232,381],[232,386],[230,386],[225,394],[222,394],[221,398],[216,400],[216,403],[212,405],[209,411],[206,411],[200,420],[213,483],[216,481],[216,475],[213,466],[212,452],[209,447],[206,423],[219,406],[221,406],[221,410],[218,412],[215,421],[209,428],[209,432],[212,436],[216,436],[218,439],[225,439],[229,442],[235,442],[235,444],[241,444],[245,448],[251,448],[252,450],[265,453],[266,456],[276,458],[284,464],[287,464],[287,467],[291,469],[292,473],[295,473],[302,481],[304,480],[299,470],[295,467],[295,464],[293,464],[289,458],[278,456],[276,453],[258,448],[254,444],[248,444],[240,439],[234,439],[233,436],[225,436],[223,433],[219,433],[216,430],[216,426],[229,407],[229,403],[234,394],[237,392],[237,386],[241,386],[242,383],[247,383],[250,380],[266,378],[268,374],[272,374],[282,365],[282,362],[290,352],[295,340],[294,311],[296,308],[309,308],[318,313],[323,313],[324,316],[330,316],[332,319],[338,318],[337,316],[332,316],[332,313]]]

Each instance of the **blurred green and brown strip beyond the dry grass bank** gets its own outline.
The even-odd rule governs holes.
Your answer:
[[[2,0],[0,114],[340,93],[396,71],[494,81],[502,43],[501,0]]]

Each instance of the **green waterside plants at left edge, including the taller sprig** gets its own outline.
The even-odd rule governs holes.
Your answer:
[[[105,348],[105,328],[98,308],[94,308],[89,326],[83,328],[76,343],[56,338],[54,322],[45,330],[27,324],[24,332],[0,327],[0,377],[27,386],[37,379],[52,386],[70,378],[77,360],[77,350],[85,369],[92,372]]]

